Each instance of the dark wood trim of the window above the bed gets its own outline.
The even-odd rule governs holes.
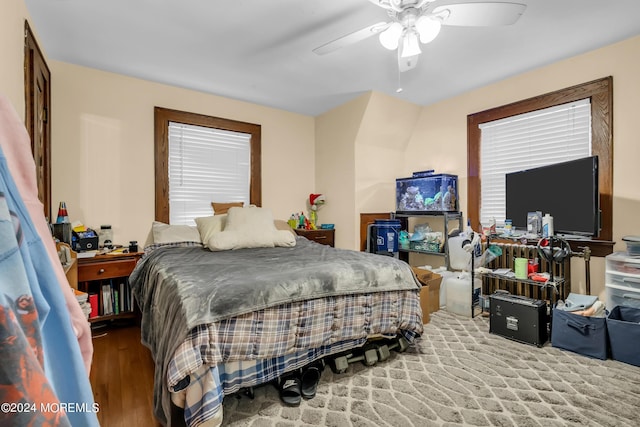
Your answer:
[[[249,201],[262,205],[261,126],[219,117],[155,107],[156,221],[169,222],[169,122],[251,134],[251,178]]]

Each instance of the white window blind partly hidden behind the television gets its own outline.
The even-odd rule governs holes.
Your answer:
[[[491,218],[504,222],[507,173],[591,155],[588,98],[483,123],[479,127],[481,224]]]

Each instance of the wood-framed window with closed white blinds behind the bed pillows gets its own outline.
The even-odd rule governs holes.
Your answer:
[[[155,108],[156,220],[193,224],[211,202],[261,205],[259,125]]]

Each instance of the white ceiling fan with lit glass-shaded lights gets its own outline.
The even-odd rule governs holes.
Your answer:
[[[488,27],[515,23],[526,5],[509,2],[450,3],[433,7],[436,0],[369,0],[387,10],[390,21],[381,21],[313,49],[325,55],[378,35],[382,46],[398,50],[400,72],[414,68],[422,52],[420,43],[438,36],[442,25]]]

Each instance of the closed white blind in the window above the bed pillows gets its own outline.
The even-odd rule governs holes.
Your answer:
[[[169,222],[194,225],[211,202],[249,204],[251,134],[169,122]]]

